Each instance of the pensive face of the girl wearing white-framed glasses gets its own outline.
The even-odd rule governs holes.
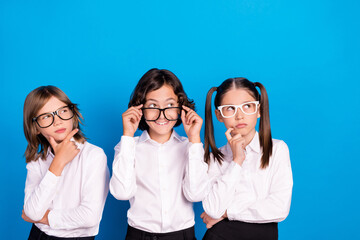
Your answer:
[[[256,101],[244,89],[232,89],[225,93],[221,100],[221,105],[240,105],[246,102]],[[240,109],[237,109],[235,116],[224,118],[218,109],[215,110],[217,119],[225,124],[225,127],[233,128],[231,134],[241,134],[245,139],[251,140],[255,135],[255,126],[257,119],[260,117],[260,108],[252,115],[246,115]]]

